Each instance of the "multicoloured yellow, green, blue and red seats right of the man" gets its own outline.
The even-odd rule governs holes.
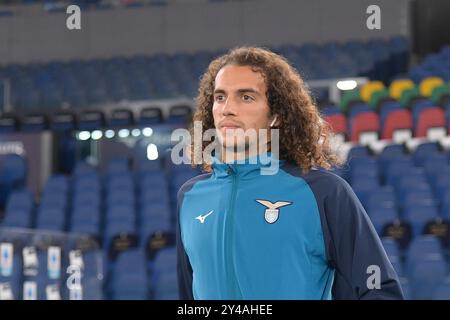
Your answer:
[[[429,77],[416,86],[395,80],[385,88],[371,81],[347,92],[340,107],[322,110],[333,130],[344,140],[387,139],[403,142],[411,137],[446,136],[450,132],[450,85]]]

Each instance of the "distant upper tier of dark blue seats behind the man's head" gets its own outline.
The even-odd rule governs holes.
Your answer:
[[[409,57],[404,38],[286,45],[273,50],[287,57],[306,80],[366,76],[388,81],[406,72]],[[223,53],[11,64],[0,67],[0,79],[9,79],[15,109],[27,112],[62,106],[86,108],[123,100],[193,97],[209,62]]]

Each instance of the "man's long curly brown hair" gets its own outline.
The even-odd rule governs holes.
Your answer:
[[[209,64],[200,79],[192,119],[193,122],[201,121],[203,132],[214,129],[212,106],[215,78],[226,65],[249,66],[264,77],[270,113],[278,115],[280,120],[277,125],[280,130],[280,159],[295,163],[305,173],[313,167],[330,169],[341,164],[330,146],[331,128],[322,119],[301,76],[284,57],[264,48],[238,47]],[[192,137],[192,126],[190,130]],[[193,143],[190,145],[193,167],[199,165],[194,159],[200,159],[210,143],[202,142],[201,150],[195,148]],[[203,170],[211,171],[210,164],[205,161],[201,163]]]

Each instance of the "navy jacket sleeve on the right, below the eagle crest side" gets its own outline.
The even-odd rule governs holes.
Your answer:
[[[331,173],[314,180],[328,261],[335,269],[333,298],[403,299],[398,276],[350,185]]]

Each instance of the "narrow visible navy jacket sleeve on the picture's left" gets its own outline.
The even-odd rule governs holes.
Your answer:
[[[178,191],[176,216],[177,276],[178,292],[181,300],[193,300],[192,267],[181,239],[180,207],[184,197],[184,189]]]

